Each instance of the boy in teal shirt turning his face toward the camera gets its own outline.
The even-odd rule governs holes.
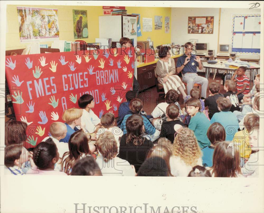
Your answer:
[[[210,144],[207,138],[207,130],[210,126],[210,121],[207,117],[200,111],[201,102],[198,98],[190,98],[185,103],[187,113],[191,116],[189,128],[194,131],[200,148],[204,148]]]

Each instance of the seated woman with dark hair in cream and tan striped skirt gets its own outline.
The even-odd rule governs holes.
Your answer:
[[[164,87],[165,94],[170,89],[175,89],[178,94],[182,94],[183,99],[186,97],[184,92],[185,86],[176,72],[175,61],[171,58],[170,47],[161,46],[159,49],[159,59],[157,62],[156,73],[158,75],[158,82]]]

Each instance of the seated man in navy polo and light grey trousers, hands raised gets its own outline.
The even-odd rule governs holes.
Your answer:
[[[182,81],[187,83],[187,94],[190,95],[191,89],[194,84],[202,85],[201,96],[206,98],[206,90],[208,87],[208,80],[197,74],[196,67],[202,69],[202,63],[199,56],[191,55],[192,46],[191,42],[187,42],[184,45],[185,53],[180,56],[177,61],[177,73],[182,72]]]

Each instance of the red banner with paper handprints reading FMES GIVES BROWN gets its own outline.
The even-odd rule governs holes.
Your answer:
[[[49,126],[63,111],[78,107],[83,94],[95,100],[98,117],[118,115],[125,93],[132,90],[134,52],[107,49],[6,56],[6,78],[17,120],[27,122],[26,147],[48,136]]]

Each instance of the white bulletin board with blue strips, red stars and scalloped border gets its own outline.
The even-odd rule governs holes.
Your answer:
[[[232,18],[232,52],[260,54],[260,14],[239,14]]]

